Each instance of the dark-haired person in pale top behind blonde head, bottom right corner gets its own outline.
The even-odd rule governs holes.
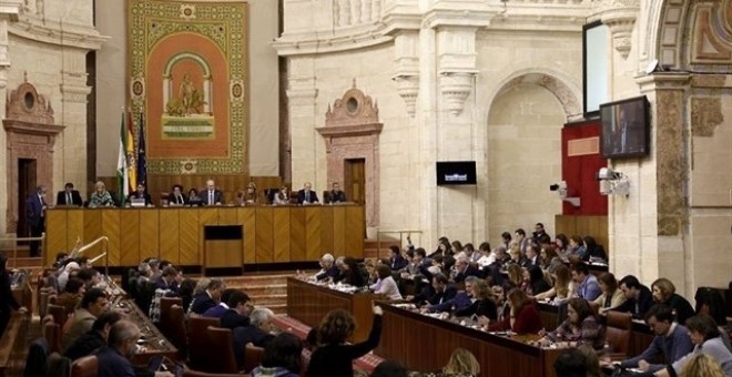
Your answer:
[[[671,364],[671,366],[657,371],[654,376],[669,377],[679,375],[689,360],[700,354],[714,358],[724,370],[724,376],[732,376],[732,353],[724,346],[714,319],[708,315],[697,315],[687,320],[687,328],[689,328],[694,349]]]

